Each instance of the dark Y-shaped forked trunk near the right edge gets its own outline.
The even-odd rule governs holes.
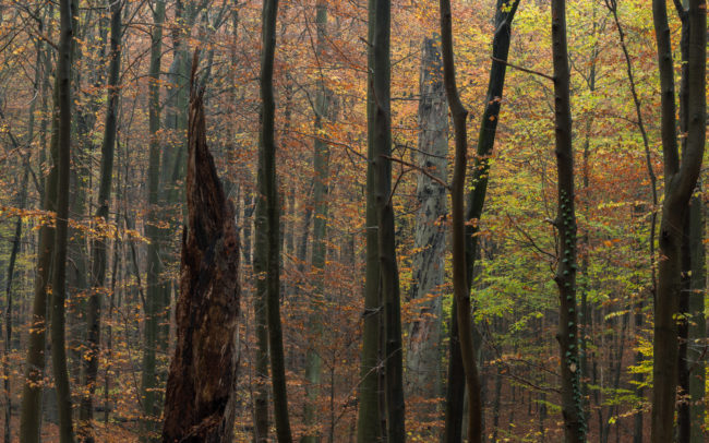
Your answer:
[[[660,85],[662,98],[662,152],[664,202],[660,223],[660,256],[656,299],[652,443],[672,440],[677,385],[677,299],[682,290],[682,237],[688,203],[701,170],[706,137],[706,43],[707,11],[704,0],[690,0],[687,52],[686,148],[677,146],[672,41],[664,0],[653,0]]]

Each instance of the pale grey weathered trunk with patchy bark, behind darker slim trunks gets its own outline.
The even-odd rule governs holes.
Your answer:
[[[448,115],[443,87],[441,38],[423,40],[419,77],[419,144],[418,166],[446,181],[448,164]],[[419,209],[416,219],[413,249],[413,288],[417,319],[409,326],[406,354],[407,395],[422,398],[441,396],[441,321],[445,265],[446,189],[424,173],[417,182]],[[420,303],[420,304],[419,304]],[[422,414],[431,415],[428,407]],[[419,415],[419,417],[423,417]],[[434,415],[430,416],[431,418]]]

